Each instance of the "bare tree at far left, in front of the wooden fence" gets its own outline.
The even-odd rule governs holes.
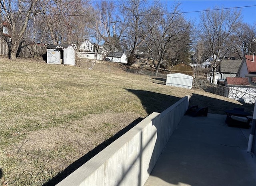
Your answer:
[[[39,0],[1,0],[2,15],[10,26],[11,41],[8,42],[10,60],[16,60],[16,53],[20,43],[24,40],[28,22],[46,8],[46,3]]]

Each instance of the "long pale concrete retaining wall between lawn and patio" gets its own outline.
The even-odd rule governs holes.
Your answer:
[[[188,104],[186,96],[153,112],[57,186],[144,185]]]

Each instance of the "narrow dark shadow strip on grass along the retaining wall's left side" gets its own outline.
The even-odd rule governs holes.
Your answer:
[[[143,118],[137,118],[132,123],[130,123],[128,126],[120,130],[118,133],[116,133],[114,136],[109,138],[108,140],[102,142],[100,145],[98,145],[96,148],[70,164],[65,170],[60,172],[57,176],[49,180],[47,183],[45,183],[43,186],[54,186],[58,184],[60,181],[64,180],[68,175],[70,175],[72,172],[74,172],[76,169],[78,169],[80,166],[88,162],[92,157],[94,157],[96,154],[98,154],[100,151],[102,151],[104,148],[106,148],[108,145],[110,145],[112,142],[114,142],[116,139],[118,139],[120,136],[125,134],[128,130],[133,128],[136,124],[141,122]]]

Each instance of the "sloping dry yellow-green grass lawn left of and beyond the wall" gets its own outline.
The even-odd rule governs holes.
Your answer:
[[[0,58],[2,184],[56,184],[152,112],[190,95],[210,113],[253,106],[202,90],[165,86],[113,64],[80,67]],[[111,68],[110,68],[111,67]],[[80,162],[81,165],[81,162]],[[58,176],[59,175],[59,176]],[[55,178],[54,178],[55,177]],[[52,178],[54,178],[52,180]],[[49,180],[51,180],[49,182]],[[54,182],[55,181],[55,182]]]

